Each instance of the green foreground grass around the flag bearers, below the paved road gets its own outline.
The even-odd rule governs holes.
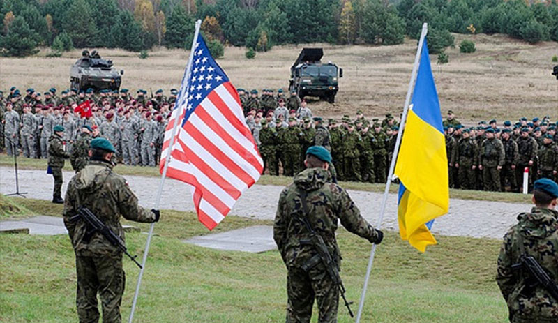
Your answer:
[[[21,210],[12,217],[60,216],[62,209],[41,200],[0,200],[6,201]],[[228,216],[215,231],[255,224],[271,221]],[[284,322],[286,271],[276,250],[251,254],[183,243],[209,233],[190,212],[162,211],[155,232],[135,322]],[[506,305],[494,281],[500,242],[437,239],[437,246],[421,254],[387,232],[377,249],[362,322],[506,321]],[[141,257],[146,235],[129,233],[126,241],[130,253]],[[347,297],[358,303],[370,243],[344,229],[338,241]],[[122,313],[127,320],[139,269],[127,259],[124,266]],[[0,322],[75,322],[75,278],[68,236],[1,236]],[[339,322],[353,322],[345,308],[339,313]]]

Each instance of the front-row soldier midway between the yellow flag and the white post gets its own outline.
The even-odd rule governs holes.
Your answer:
[[[499,192],[502,190],[500,171],[504,166],[506,153],[504,152],[504,144],[495,137],[494,133],[493,129],[485,131],[486,139],[481,145],[480,155],[478,156],[481,165],[478,167],[483,171],[484,190]]]

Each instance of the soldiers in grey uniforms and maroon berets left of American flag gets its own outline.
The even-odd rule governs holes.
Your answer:
[[[43,96],[34,89],[27,89],[22,96],[12,87],[7,96],[0,91],[0,149],[5,147],[10,156],[21,150],[27,158],[48,158],[48,139],[55,126],[62,126],[68,153],[73,152],[80,138],[101,136],[116,147],[115,160],[126,165],[155,166],[177,93],[172,89],[167,98],[159,89],[148,97],[140,89],[133,98],[128,89],[98,93],[93,89],[68,89],[57,96],[56,89],[51,88]],[[80,105],[86,101],[90,111],[80,112]]]

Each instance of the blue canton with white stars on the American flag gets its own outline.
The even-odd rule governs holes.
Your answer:
[[[202,100],[204,100],[213,89],[220,84],[229,82],[229,78],[223,69],[221,69],[213,57],[211,57],[201,33],[197,36],[194,48],[190,80],[186,80],[186,73],[188,73],[188,71],[185,71],[176,105],[174,105],[174,109],[176,109],[176,107],[180,107],[186,103],[186,114],[182,121],[182,126],[188,121],[190,114],[194,112],[199,103],[202,103]]]

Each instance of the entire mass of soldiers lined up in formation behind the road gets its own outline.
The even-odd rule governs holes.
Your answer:
[[[255,89],[237,91],[265,173],[294,176],[303,169],[306,149],[320,145],[331,152],[337,180],[385,183],[399,132],[393,115],[369,120],[358,110],[354,119],[346,114],[340,121],[326,121],[314,116],[296,91],[288,97],[282,89],[264,89],[261,96]],[[81,137],[102,136],[114,145],[121,163],[155,166],[177,94],[172,89],[167,97],[159,89],[148,96],[140,89],[132,97],[128,89],[68,89],[58,96],[52,88],[41,96],[34,89],[22,95],[12,87],[6,96],[0,91],[0,149],[6,147],[8,155],[21,150],[25,157],[47,158],[48,138],[59,125],[65,129],[68,153]],[[91,116],[76,112],[87,100]],[[557,125],[549,117],[465,127],[450,111],[444,128],[452,188],[517,192],[526,167],[529,187],[541,177],[557,179]]]

